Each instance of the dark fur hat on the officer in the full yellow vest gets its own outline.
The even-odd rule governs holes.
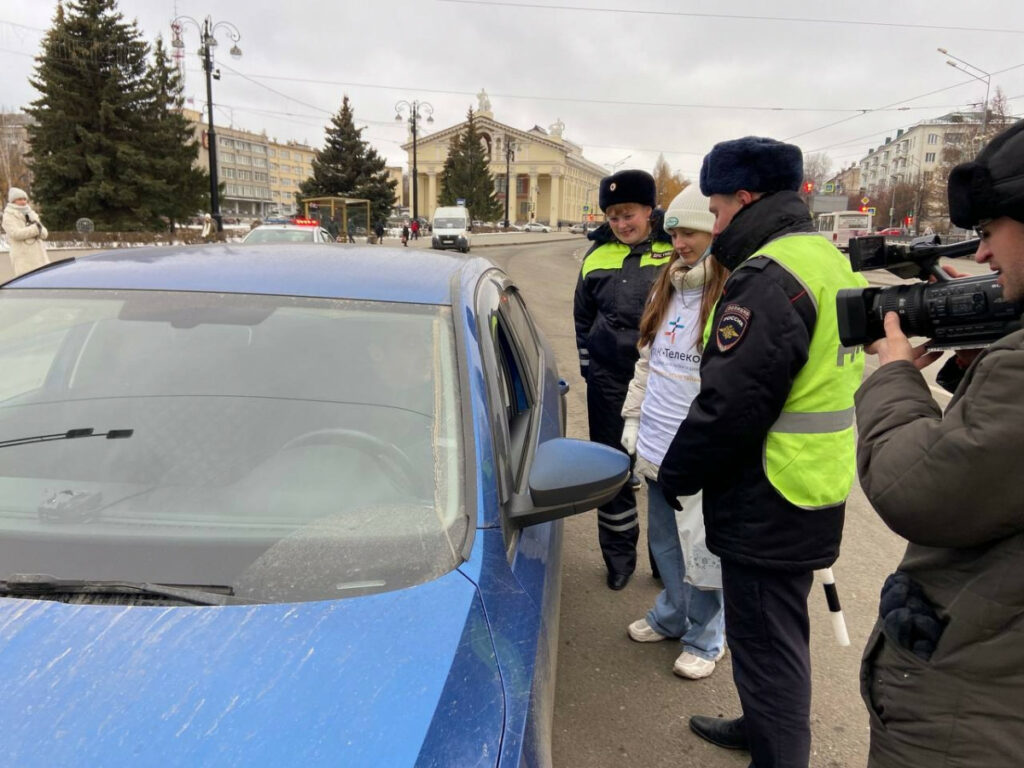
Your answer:
[[[797,191],[803,179],[800,147],[762,136],[721,141],[705,155],[700,166],[700,193],[705,197],[732,195],[739,189]]]

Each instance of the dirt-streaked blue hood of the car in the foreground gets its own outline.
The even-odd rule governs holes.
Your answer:
[[[458,571],[275,605],[4,598],[0,664],[3,765],[493,765],[501,739],[489,633]]]

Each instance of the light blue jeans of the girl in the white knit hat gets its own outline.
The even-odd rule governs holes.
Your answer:
[[[725,645],[722,590],[697,589],[683,580],[686,563],[679,546],[676,511],[652,480],[647,481],[647,528],[665,585],[647,613],[647,624],[666,637],[678,637],[683,650],[700,658],[717,658]]]

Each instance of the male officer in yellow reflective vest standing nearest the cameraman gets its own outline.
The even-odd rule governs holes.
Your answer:
[[[690,728],[750,750],[757,768],[809,760],[807,595],[839,555],[863,371],[863,352],[841,346],[836,294],[866,282],[814,232],[802,180],[799,147],[770,138],[724,141],[703,159],[712,253],[733,271],[705,331],[700,393],[658,475],[670,502],[703,488],[743,710]]]

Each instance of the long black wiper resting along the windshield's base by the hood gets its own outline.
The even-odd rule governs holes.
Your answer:
[[[171,587],[146,582],[97,582],[85,579],[57,579],[49,573],[11,573],[0,582],[0,595],[8,597],[46,597],[74,595],[145,595],[167,597],[193,605],[247,605],[249,600],[234,597],[230,587]]]

